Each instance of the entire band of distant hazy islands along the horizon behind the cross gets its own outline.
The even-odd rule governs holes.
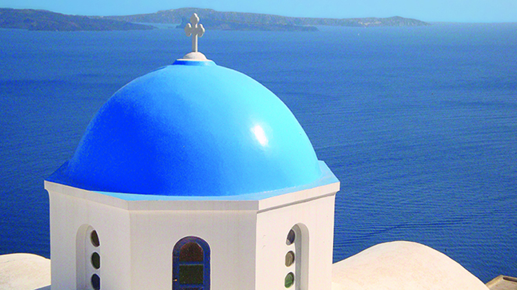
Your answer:
[[[212,9],[180,8],[162,10],[150,14],[125,16],[80,16],[46,10],[0,8],[0,28],[26,30],[152,30],[153,23],[165,23],[185,27],[192,13],[196,12],[203,26],[210,30],[263,30],[263,31],[317,31],[318,25],[346,27],[423,26],[429,25],[416,19],[400,16],[389,18],[303,18],[270,14],[219,12]],[[150,25],[151,24],[151,25]]]

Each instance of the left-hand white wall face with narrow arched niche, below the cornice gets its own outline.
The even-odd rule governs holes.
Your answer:
[[[130,289],[129,213],[52,190],[49,190],[49,196],[52,290],[76,289],[76,237],[81,225],[85,224],[91,225],[99,234],[101,288]]]

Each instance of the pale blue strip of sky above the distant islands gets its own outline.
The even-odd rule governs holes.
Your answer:
[[[423,21],[517,22],[517,0],[0,0],[0,7],[83,15],[139,14],[197,7],[283,16],[403,16]]]

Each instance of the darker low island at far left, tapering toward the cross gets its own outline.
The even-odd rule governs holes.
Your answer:
[[[66,15],[47,10],[0,8],[0,28],[46,31],[105,31],[152,30],[156,27],[113,19]]]

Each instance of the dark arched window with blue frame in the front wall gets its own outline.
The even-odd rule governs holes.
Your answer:
[[[210,247],[187,236],[172,250],[172,290],[210,290]]]

